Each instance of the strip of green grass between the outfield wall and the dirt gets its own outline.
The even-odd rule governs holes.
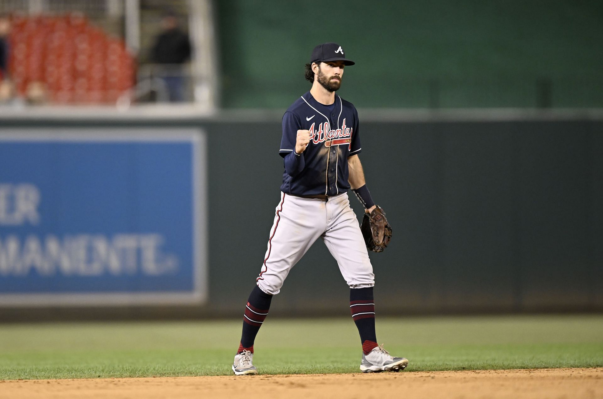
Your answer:
[[[230,375],[242,321],[0,325],[0,379]],[[377,339],[407,371],[603,366],[603,316],[377,318]],[[268,316],[264,374],[358,372],[349,318]]]

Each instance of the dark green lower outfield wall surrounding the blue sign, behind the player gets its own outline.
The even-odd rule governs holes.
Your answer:
[[[0,134],[14,127],[207,132],[209,302],[74,314],[240,313],[264,259],[283,166],[277,118],[227,119],[2,122]],[[602,310],[602,131],[600,120],[364,122],[360,157],[393,226],[390,247],[371,254],[377,312]],[[352,205],[359,213],[358,201]],[[289,274],[273,311],[343,315],[348,295],[319,241]],[[68,313],[52,307],[43,316]],[[2,318],[27,314],[0,310]]]

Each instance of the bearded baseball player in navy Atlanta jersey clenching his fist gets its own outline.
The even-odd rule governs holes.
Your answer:
[[[344,67],[353,64],[336,43],[316,46],[306,64],[306,80],[312,88],[283,115],[279,154],[285,171],[280,202],[264,264],[245,305],[241,342],[232,365],[236,375],[257,374],[252,363],[253,342],[271,300],[319,237],[350,286],[350,311],[362,342],[361,371],[400,371],[408,365],[408,360],[393,357],[378,345],[375,334],[374,275],[367,247],[382,251],[391,228],[364,181],[358,158],[358,112],[335,94]],[[362,232],[350,207],[350,188],[365,207]]]

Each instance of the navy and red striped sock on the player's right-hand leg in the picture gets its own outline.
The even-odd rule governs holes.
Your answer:
[[[362,351],[368,354],[377,346],[373,287],[350,288],[350,313],[360,333]]]

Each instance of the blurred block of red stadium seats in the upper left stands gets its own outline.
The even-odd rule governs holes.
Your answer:
[[[134,84],[134,60],[124,42],[89,24],[86,16],[11,17],[11,76],[25,95],[45,83],[58,104],[115,102]]]

